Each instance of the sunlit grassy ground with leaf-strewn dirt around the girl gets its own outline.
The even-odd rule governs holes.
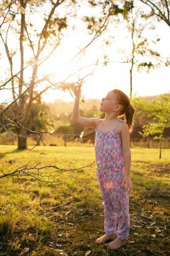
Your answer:
[[[93,146],[37,146],[18,151],[0,145],[5,173],[40,162],[70,169],[95,159]],[[75,172],[47,168],[59,175],[55,184],[33,178],[0,179],[0,255],[167,255],[169,253],[170,150],[131,148],[130,234],[127,244],[110,252],[95,244],[104,233],[104,205],[96,166]],[[13,163],[8,161],[12,158]],[[52,178],[51,178],[52,179]],[[61,205],[62,203],[65,203]],[[60,206],[61,205],[61,206]]]

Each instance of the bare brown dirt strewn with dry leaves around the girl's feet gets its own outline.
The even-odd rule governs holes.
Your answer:
[[[82,204],[82,205],[81,205]],[[80,208],[81,206],[81,208]],[[104,206],[101,201],[96,209],[78,207],[71,203],[64,211],[54,212],[56,230],[50,237],[54,249],[60,247],[67,255],[168,255],[170,241],[169,201],[147,196],[130,198],[130,233],[123,247],[109,251],[105,244],[95,243],[104,234]],[[64,212],[69,212],[66,215]],[[61,245],[61,246],[60,246]],[[47,244],[46,244],[47,246]]]

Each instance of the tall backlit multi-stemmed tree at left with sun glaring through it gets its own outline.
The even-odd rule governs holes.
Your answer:
[[[63,44],[62,39],[66,38],[67,33],[75,29],[71,19],[77,18],[78,22],[84,19],[84,15],[80,15],[82,4],[88,8],[91,6],[88,1],[80,3],[75,0],[1,1],[0,36],[9,62],[10,74],[6,81],[2,82],[0,89],[12,92],[12,102],[9,99],[9,104],[2,104],[3,111],[0,115],[5,117],[7,110],[10,111],[10,115],[5,119],[17,127],[15,136],[18,138],[19,149],[27,149],[25,124],[29,120],[33,101],[50,88],[70,90],[73,86],[73,83],[67,82],[72,73],[64,81],[54,82],[50,74],[42,76],[42,72],[39,71],[43,63]],[[103,10],[103,4],[101,8]],[[88,43],[71,58],[70,62],[102,35],[111,8],[112,4],[104,8],[107,11],[100,15],[100,26],[93,30]],[[16,67],[18,72],[14,71]],[[79,81],[82,81],[82,78],[77,82]],[[39,95],[34,94],[34,89],[42,84],[45,84],[45,88],[39,91]],[[8,131],[7,126],[6,130]]]

